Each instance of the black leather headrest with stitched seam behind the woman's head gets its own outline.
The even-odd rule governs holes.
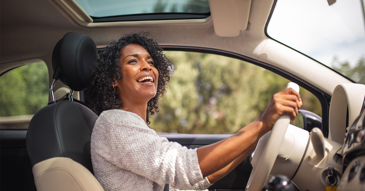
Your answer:
[[[53,78],[74,91],[82,91],[87,88],[88,71],[96,59],[96,45],[90,37],[67,33],[53,49]]]

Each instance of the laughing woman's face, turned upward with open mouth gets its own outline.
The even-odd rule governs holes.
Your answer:
[[[146,49],[127,45],[119,58],[122,79],[115,83],[123,103],[147,103],[157,92],[158,71]]]

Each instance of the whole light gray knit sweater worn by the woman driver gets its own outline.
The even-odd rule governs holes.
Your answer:
[[[105,190],[204,190],[196,149],[169,142],[135,113],[108,110],[100,114],[91,135],[94,174]]]

